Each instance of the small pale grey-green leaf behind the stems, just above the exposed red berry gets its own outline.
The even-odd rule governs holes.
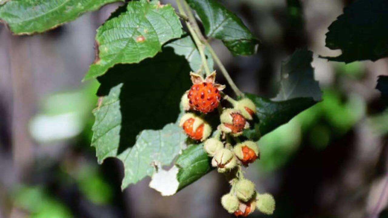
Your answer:
[[[202,60],[196,45],[192,41],[190,36],[174,40],[165,45],[165,47],[174,48],[175,54],[184,55],[186,60],[189,62],[192,71],[196,72],[201,68]],[[205,54],[208,60],[208,67],[210,71],[213,71],[213,58],[209,51],[206,49]]]

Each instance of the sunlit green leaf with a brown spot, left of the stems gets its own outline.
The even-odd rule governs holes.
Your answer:
[[[126,12],[111,17],[97,29],[96,59],[84,80],[106,73],[115,64],[139,63],[153,57],[164,43],[182,35],[173,7],[158,3],[155,0],[128,2]]]

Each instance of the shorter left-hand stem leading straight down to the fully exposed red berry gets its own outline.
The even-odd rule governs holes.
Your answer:
[[[177,2],[177,5],[178,5],[179,13],[182,14],[183,16],[187,17],[187,14],[186,14],[185,10],[182,7],[182,2],[184,4],[187,4],[187,3],[184,0],[176,0],[176,2]],[[189,14],[189,17],[188,17],[189,20],[185,21],[185,23],[186,23],[187,29],[189,29],[189,32],[190,32],[190,34],[191,34],[191,36],[192,36],[192,38],[194,40],[194,43],[197,46],[199,55],[201,56],[202,64],[203,64],[203,66],[205,68],[206,76],[208,76],[208,75],[210,75],[211,72],[210,72],[210,69],[209,69],[209,66],[208,66],[208,61],[206,60],[206,56],[205,56],[205,53],[204,53],[205,45],[201,42],[201,40],[199,40],[196,31],[194,31],[194,29],[192,27],[193,21],[192,21],[192,19],[190,19],[190,16],[192,16],[192,17],[194,17],[194,16],[192,15],[191,9],[188,7],[188,5],[187,5],[186,9],[187,9],[187,13]],[[196,22],[195,19],[194,19],[194,22]],[[195,25],[195,24],[193,24],[193,25]]]

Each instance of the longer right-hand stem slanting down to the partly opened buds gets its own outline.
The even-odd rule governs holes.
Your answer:
[[[185,0],[183,0],[183,4],[185,5],[185,8],[187,10],[188,18],[189,18],[189,23],[193,24],[194,26],[194,31],[196,32],[196,35],[201,39],[202,43],[208,48],[208,51],[210,52],[211,56],[213,57],[214,61],[217,63],[218,67],[220,67],[221,73],[225,77],[226,81],[229,83],[230,87],[236,93],[237,96],[244,97],[244,93],[242,93],[239,88],[237,88],[236,84],[233,82],[232,78],[230,78],[230,75],[228,71],[226,70],[225,66],[223,66],[222,62],[218,58],[217,54],[214,52],[213,48],[210,46],[208,41],[205,39],[205,37],[202,35],[201,30],[198,27],[197,21],[194,17],[194,15],[191,12],[189,4]],[[182,7],[182,5],[181,5]],[[178,5],[179,8],[179,5]],[[185,15],[185,14],[184,14]],[[189,29],[190,30],[190,29]],[[191,32],[190,32],[191,33]],[[192,34],[192,33],[191,33]],[[192,34],[193,35],[193,34]],[[193,36],[194,38],[194,36]],[[207,63],[206,63],[207,65]]]

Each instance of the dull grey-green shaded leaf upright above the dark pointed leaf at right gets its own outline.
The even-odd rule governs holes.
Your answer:
[[[276,101],[298,97],[312,97],[319,101],[322,91],[319,83],[314,80],[314,68],[311,66],[313,53],[306,49],[296,50],[293,55],[282,63],[280,90]]]

